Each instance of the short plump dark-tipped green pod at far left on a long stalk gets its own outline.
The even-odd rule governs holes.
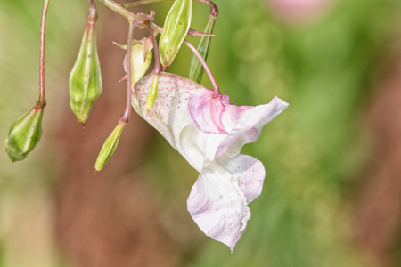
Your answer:
[[[42,135],[43,107],[33,107],[12,125],[5,140],[5,151],[12,162],[27,157]]]

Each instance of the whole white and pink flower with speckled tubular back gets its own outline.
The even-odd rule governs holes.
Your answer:
[[[255,142],[263,125],[286,109],[278,98],[257,107],[237,107],[221,94],[173,74],[160,76],[158,98],[148,113],[151,76],[143,77],[132,94],[135,111],[163,135],[198,172],[187,200],[192,219],[209,237],[233,250],[250,219],[248,204],[258,198],[265,168],[240,154]]]

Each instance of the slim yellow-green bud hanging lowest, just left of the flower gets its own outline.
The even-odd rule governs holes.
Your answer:
[[[94,174],[97,174],[106,165],[107,161],[113,155],[114,151],[119,144],[119,136],[124,130],[125,122],[119,120],[119,124],[114,128],[109,137],[104,141],[99,156],[97,156],[96,163],[94,164]]]

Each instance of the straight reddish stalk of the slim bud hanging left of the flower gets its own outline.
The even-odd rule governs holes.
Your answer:
[[[131,46],[132,38],[134,36],[134,21],[128,23],[128,39],[127,39],[127,102],[126,109],[123,115],[119,117],[119,120],[124,123],[128,123],[129,116],[131,114],[131,86],[132,86],[132,65],[131,65]]]

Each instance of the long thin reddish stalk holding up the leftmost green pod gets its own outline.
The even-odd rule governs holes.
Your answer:
[[[39,98],[37,99],[37,108],[45,108],[45,25],[47,7],[49,0],[45,0],[42,12],[42,21],[40,22],[40,55],[39,55]]]

